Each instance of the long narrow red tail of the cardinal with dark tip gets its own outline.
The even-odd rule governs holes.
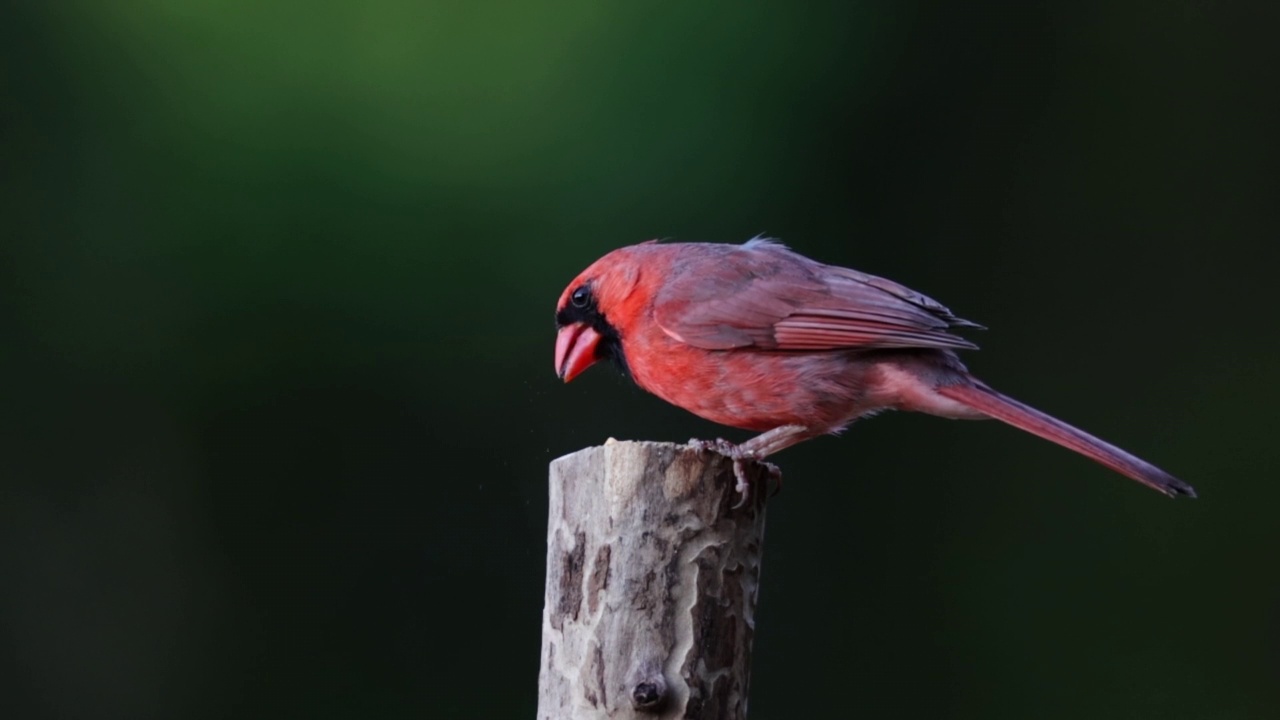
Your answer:
[[[1111,468],[1116,473],[1133,478],[1169,497],[1178,497],[1180,495],[1196,497],[1196,489],[1192,486],[1156,468],[1151,462],[1129,455],[1119,447],[1103,442],[1079,428],[1073,428],[1062,420],[1046,415],[1029,405],[1023,405],[1011,397],[1000,395],[978,380],[973,382],[975,384],[943,386],[936,389],[938,395],[968,405],[983,415],[1009,423],[1033,436],[1039,436],[1050,442],[1061,445],[1068,450],[1074,450],[1094,462]]]

